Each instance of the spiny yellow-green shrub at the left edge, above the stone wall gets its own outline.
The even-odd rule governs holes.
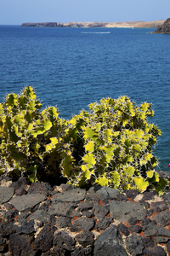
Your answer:
[[[41,108],[29,86],[20,95],[9,94],[0,104],[0,172],[14,179],[26,176],[31,182],[51,179],[57,183],[67,123],[59,119],[56,108],[40,112]]]

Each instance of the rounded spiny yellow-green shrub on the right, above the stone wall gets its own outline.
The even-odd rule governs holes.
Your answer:
[[[69,168],[65,160],[61,163],[69,183],[78,187],[98,183],[120,190],[162,189],[162,180],[153,171],[158,163],[152,148],[161,131],[147,122],[154,114],[151,104],[144,102],[139,108],[122,96],[102,99],[89,109],[70,121],[73,160]]]

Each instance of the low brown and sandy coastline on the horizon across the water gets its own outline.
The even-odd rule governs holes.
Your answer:
[[[127,22],[27,22],[21,26],[37,26],[37,27],[157,27],[161,26],[165,20],[155,21],[127,21]]]

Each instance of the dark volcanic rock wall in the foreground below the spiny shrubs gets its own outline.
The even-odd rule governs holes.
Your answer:
[[[2,256],[166,256],[170,191],[12,183],[0,177]]]

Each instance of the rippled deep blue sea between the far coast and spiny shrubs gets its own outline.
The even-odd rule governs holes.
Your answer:
[[[170,35],[155,30],[0,26],[0,102],[29,84],[65,119],[108,96],[152,103],[162,133],[155,154],[168,171]]]

